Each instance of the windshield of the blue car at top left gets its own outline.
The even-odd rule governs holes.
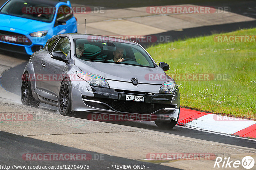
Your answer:
[[[31,0],[11,0],[1,9],[0,13],[34,19],[43,22],[51,22],[56,7],[43,4],[44,1],[33,2]]]

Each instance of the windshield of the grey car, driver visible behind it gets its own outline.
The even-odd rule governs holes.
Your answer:
[[[124,42],[75,39],[75,54],[77,58],[87,61],[154,67],[153,60],[141,46]],[[122,62],[118,62],[119,59]]]

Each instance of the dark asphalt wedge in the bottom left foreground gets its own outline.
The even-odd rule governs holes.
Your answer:
[[[105,154],[99,154],[96,152],[89,152],[80,149],[75,149],[72,147],[62,146],[58,144],[53,144],[49,142],[45,142],[42,140],[37,140],[28,137],[22,137],[19,135],[14,135],[12,133],[2,132],[0,131],[0,143],[1,143],[1,154],[0,154],[0,165],[8,165],[11,166],[55,166],[55,169],[58,165],[89,165],[90,169],[110,169],[111,165],[145,165],[145,169],[147,170],[178,170],[177,168],[172,168],[169,166],[162,166],[158,164],[148,163],[148,162],[140,162],[137,160],[120,158],[116,156],[108,156]],[[65,160],[65,161],[56,161],[56,160],[23,160],[21,159],[24,153],[76,153],[76,154],[89,154],[91,156],[91,160]],[[100,159],[101,157],[101,159]],[[8,164],[7,164],[8,162]],[[1,168],[2,169],[2,168]],[[20,168],[15,168],[20,169]],[[25,168],[23,168],[25,169]],[[77,168],[70,168],[77,169]],[[86,169],[86,168],[84,168]],[[133,169],[133,168],[131,168]]]

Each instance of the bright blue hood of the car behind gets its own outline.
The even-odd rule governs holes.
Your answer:
[[[0,14],[0,26],[26,31],[28,33],[48,30],[51,23]]]

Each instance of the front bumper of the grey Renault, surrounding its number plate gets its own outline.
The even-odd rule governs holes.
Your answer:
[[[88,89],[87,89],[88,90]],[[180,111],[179,89],[174,94],[134,92],[91,87],[89,95],[72,88],[72,110],[109,115],[150,116],[153,120],[177,120]],[[93,93],[93,95],[92,95]],[[75,96],[76,97],[75,97]],[[126,101],[126,95],[144,96],[144,102]],[[78,97],[79,96],[79,97]]]

